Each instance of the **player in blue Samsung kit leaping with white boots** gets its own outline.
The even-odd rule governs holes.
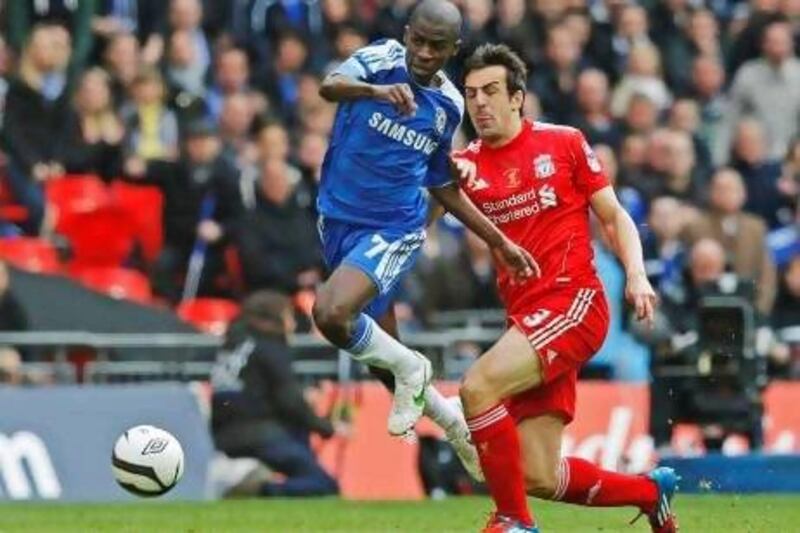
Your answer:
[[[322,168],[318,210],[332,274],[320,287],[314,321],[334,345],[391,373],[388,428],[411,431],[424,414],[439,424],[473,477],[477,455],[464,415],[433,386],[427,358],[396,340],[393,291],[425,239],[426,189],[491,247],[517,276],[537,268],[470,203],[451,173],[452,136],[464,100],[442,72],[460,43],[461,14],[450,2],[425,0],[411,14],[404,45],[377,41],[356,51],[322,83],[338,102]]]

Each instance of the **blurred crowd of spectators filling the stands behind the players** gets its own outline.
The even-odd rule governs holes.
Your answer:
[[[401,39],[414,3],[0,2],[4,239],[63,246],[66,234],[69,246],[76,223],[51,190],[91,175],[108,190],[160,191],[155,248],[140,242],[111,265],[145,274],[158,301],[179,302],[198,250],[200,296],[308,295],[325,275],[315,195],[335,114],[320,80],[370,41]],[[465,28],[453,79],[479,43],[517,50],[526,115],[584,132],[640,227],[662,299],[687,305],[694,281],[724,271],[755,280],[774,371],[800,377],[800,3],[455,3]],[[642,378],[607,246],[598,228],[616,320],[599,357],[618,378]],[[406,327],[497,306],[484,245],[447,217],[435,223],[401,296]]]

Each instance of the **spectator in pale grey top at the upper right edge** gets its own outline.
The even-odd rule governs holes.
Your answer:
[[[761,50],[761,58],[742,65],[733,79],[726,128],[732,135],[743,116],[752,116],[764,128],[767,156],[779,159],[800,133],[800,60],[789,23],[767,25]]]

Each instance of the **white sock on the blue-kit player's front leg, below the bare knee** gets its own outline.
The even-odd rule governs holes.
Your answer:
[[[367,317],[367,320],[361,338],[347,350],[354,359],[391,370],[394,375],[405,374],[418,367],[419,358],[410,348],[386,333],[371,318]]]

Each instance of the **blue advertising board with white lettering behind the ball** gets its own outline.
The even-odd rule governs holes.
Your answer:
[[[111,475],[111,448],[137,424],[186,443],[186,473],[165,498],[209,497],[212,444],[187,387],[0,388],[0,405],[0,501],[133,499]]]

